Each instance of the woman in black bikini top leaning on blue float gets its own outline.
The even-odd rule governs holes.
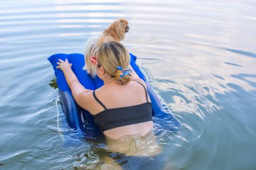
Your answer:
[[[160,147],[152,132],[150,97],[146,83],[129,66],[127,49],[119,42],[106,42],[90,60],[104,82],[95,91],[79,83],[67,60],[59,59],[57,68],[63,71],[75,101],[94,116],[106,136],[109,151],[133,156],[157,155]],[[138,141],[139,146],[132,144]]]

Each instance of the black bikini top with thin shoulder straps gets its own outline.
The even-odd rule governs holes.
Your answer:
[[[139,83],[138,81],[136,82]],[[94,121],[98,124],[102,132],[121,126],[152,121],[152,106],[148,101],[146,88],[143,84],[141,85],[146,91],[147,102],[123,108],[106,108],[106,106],[96,97],[95,91],[93,91],[94,98],[104,108],[102,112],[94,115]]]

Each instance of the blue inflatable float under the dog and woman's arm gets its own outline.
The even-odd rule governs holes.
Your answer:
[[[139,69],[139,67],[136,65],[135,60],[137,57],[133,54],[130,55],[131,67],[133,67],[133,70],[137,73],[137,75],[139,75],[139,77],[147,84],[148,93],[152,101],[152,113],[154,116],[153,121],[158,120],[158,126],[166,126],[170,131],[177,130],[177,128],[181,126],[180,122],[174,118],[174,116],[172,116],[166,105],[162,103],[158,95],[156,95],[150,86],[150,83],[146,79],[145,75],[143,75],[141,69]],[[88,75],[87,72],[82,69],[85,65],[83,54],[53,54],[48,58],[53,65],[53,69],[55,70],[59,94],[61,95],[61,107],[67,118],[67,124],[72,130],[81,130],[82,134],[88,138],[97,138],[97,136],[102,135],[102,132],[98,126],[96,126],[93,116],[88,111],[80,108],[79,105],[77,105],[73,99],[71,90],[67,85],[63,72],[60,69],[56,69],[59,58],[62,60],[67,58],[67,60],[72,63],[71,69],[77,76],[79,82],[84,85],[86,89],[98,89],[103,85],[103,82],[98,77],[92,79],[92,77],[90,77],[90,75]]]

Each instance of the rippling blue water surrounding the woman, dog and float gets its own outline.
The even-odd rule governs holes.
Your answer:
[[[86,40],[119,17],[130,23],[123,44],[182,123],[160,136],[165,169],[256,169],[253,0],[1,0],[0,169],[97,162],[98,144],[63,146],[67,127],[58,128],[46,58],[83,53]]]

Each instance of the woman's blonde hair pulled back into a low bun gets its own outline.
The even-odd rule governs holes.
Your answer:
[[[128,50],[119,42],[103,43],[96,54],[98,63],[102,65],[106,74],[115,77],[121,84],[127,84],[131,81],[131,75],[121,76],[117,67],[126,69],[129,67],[130,54]]]

